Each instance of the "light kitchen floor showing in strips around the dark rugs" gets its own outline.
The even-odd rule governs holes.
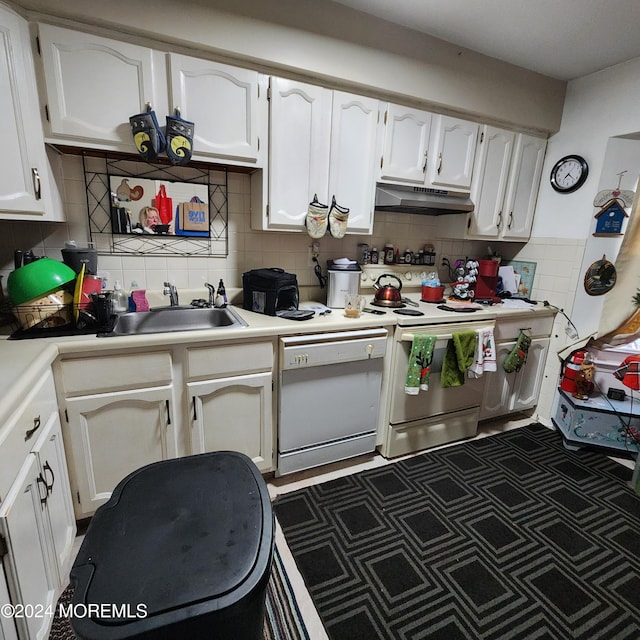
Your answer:
[[[525,426],[527,424],[531,424],[534,422],[535,418],[530,416],[526,416],[523,414],[518,414],[516,416],[511,416],[511,419],[497,419],[492,421],[487,421],[479,426],[478,435],[474,439],[484,438],[486,436],[494,435],[496,433],[500,433],[502,431],[507,431],[509,429],[516,429],[518,427]],[[447,445],[443,445],[445,447],[455,445],[457,443],[451,443]],[[442,448],[442,447],[435,447]],[[411,454],[418,455],[418,454]],[[404,456],[411,457],[411,456]],[[267,487],[269,489],[269,495],[271,499],[275,499],[277,496],[289,493],[291,491],[295,491],[297,489],[301,489],[303,487],[307,487],[312,484],[319,484],[321,482],[326,482],[328,480],[332,480],[334,478],[339,478],[341,476],[349,475],[352,473],[357,473],[359,471],[364,471],[365,469],[371,469],[374,467],[381,467],[386,464],[393,464],[402,458],[394,458],[393,460],[387,460],[383,458],[381,455],[367,455],[360,456],[358,458],[352,458],[350,460],[345,460],[342,462],[337,462],[331,465],[325,465],[324,467],[318,469],[310,469],[308,471],[301,471],[299,473],[290,474],[284,476],[282,478],[270,478],[267,480]],[[633,467],[633,462],[625,459],[615,458],[617,462]],[[79,535],[76,538],[75,542],[75,553],[80,548],[80,544],[82,543],[82,535]],[[307,591],[307,588],[302,580],[302,576],[300,575],[296,563],[291,555],[287,543],[285,541],[284,535],[279,525],[276,526],[276,544],[278,546],[278,550],[280,551],[280,555],[282,557],[282,561],[291,582],[291,586],[293,588],[298,607],[302,614],[302,618],[307,627],[307,631],[309,632],[309,637],[311,640],[328,640],[328,636],[324,630],[324,626],[320,621],[320,617],[311,601],[311,597]]]

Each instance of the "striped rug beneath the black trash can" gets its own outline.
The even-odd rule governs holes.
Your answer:
[[[58,603],[68,605],[72,597],[73,588],[69,586],[63,591]],[[215,629],[212,630],[212,634],[211,637],[215,638]],[[273,554],[271,576],[267,585],[263,634],[264,640],[310,640],[277,548]],[[75,638],[71,621],[60,617],[56,611],[49,640],[75,640]]]

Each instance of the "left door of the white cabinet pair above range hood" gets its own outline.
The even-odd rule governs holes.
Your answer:
[[[432,115],[389,104],[384,115],[384,143],[379,179],[424,185]]]

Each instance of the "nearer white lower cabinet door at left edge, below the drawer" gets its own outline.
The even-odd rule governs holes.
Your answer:
[[[47,487],[38,459],[29,454],[7,498],[0,507],[0,531],[9,552],[4,568],[9,577],[14,604],[55,604],[57,576],[49,560],[49,538],[45,524]],[[16,618],[23,639],[44,640],[49,616]]]

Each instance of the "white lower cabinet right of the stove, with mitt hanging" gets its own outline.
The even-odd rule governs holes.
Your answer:
[[[534,326],[530,328],[529,324]],[[520,327],[513,321],[503,323],[502,326],[500,323],[497,324],[495,335],[497,371],[484,374],[488,378],[480,409],[481,420],[524,411],[536,406],[549,352],[552,326],[553,316],[536,319],[534,323],[527,322],[527,326],[522,325],[527,329],[527,333],[532,335],[527,360],[517,373],[507,373],[502,365],[516,345]],[[539,337],[535,337],[536,334]],[[509,336],[509,339],[505,339],[506,336]]]

